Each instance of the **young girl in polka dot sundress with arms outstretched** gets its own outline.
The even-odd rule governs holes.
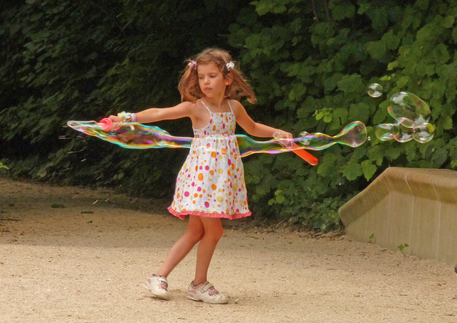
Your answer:
[[[169,300],[166,277],[200,242],[195,278],[186,297],[225,304],[228,297],[207,281],[209,263],[223,234],[220,218],[237,219],[251,214],[243,163],[234,136],[235,121],[255,137],[271,138],[273,132],[280,132],[282,138],[292,138],[292,134],[254,122],[239,101],[234,100],[248,95],[248,101],[253,103],[255,95],[230,55],[221,49],[206,49],[197,55],[195,61],[189,61],[179,82],[179,91],[182,103],[177,106],[109,117],[114,122],[140,123],[189,117],[195,134],[189,155],[176,179],[173,203],[168,208],[181,219],[189,215],[186,233],[143,286],[155,297]]]

